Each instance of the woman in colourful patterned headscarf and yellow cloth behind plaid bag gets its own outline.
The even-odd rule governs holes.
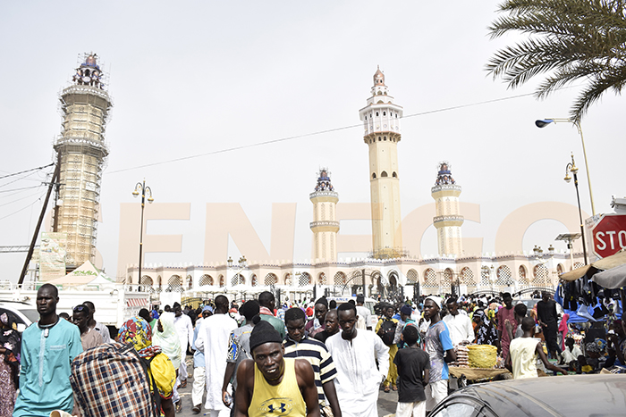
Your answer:
[[[148,321],[133,317],[126,321],[117,337],[121,343],[131,344],[142,358],[150,361],[148,372],[155,379],[158,395],[161,397],[161,409],[165,417],[174,417],[172,402],[173,386],[176,381],[176,369],[172,361],[163,354],[161,347],[152,344],[152,329]],[[150,391],[154,393],[152,380],[149,381]]]

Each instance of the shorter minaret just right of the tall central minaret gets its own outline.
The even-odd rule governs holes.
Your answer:
[[[456,185],[451,165],[447,161],[438,165],[435,187],[430,189],[430,194],[435,198],[436,216],[433,225],[437,229],[437,243],[439,255],[459,255],[463,251],[461,245],[461,225],[463,216],[459,209],[459,196],[461,186]]]

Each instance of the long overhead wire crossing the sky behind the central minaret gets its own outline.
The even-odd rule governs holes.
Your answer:
[[[452,110],[458,110],[458,109],[462,109],[462,108],[466,108],[466,107],[472,107],[472,106],[475,106],[475,105],[497,103],[497,102],[501,102],[501,101],[512,100],[512,99],[515,99],[515,98],[520,98],[520,97],[533,96],[534,94],[535,93],[527,93],[527,94],[520,94],[518,96],[495,98],[493,100],[485,100],[485,101],[477,102],[477,103],[454,105],[454,106],[451,106],[451,107],[444,107],[444,108],[441,108],[441,109],[429,110],[427,112],[408,114],[406,116],[402,116],[402,119],[408,119],[410,117],[417,117],[417,116],[424,116],[424,115],[433,114],[433,113],[449,112],[449,111],[452,111]],[[224,154],[226,152],[233,152],[233,151],[238,151],[238,150],[241,150],[241,149],[248,149],[248,148],[256,147],[256,146],[271,145],[271,144],[275,144],[275,143],[279,143],[279,142],[285,142],[285,141],[293,140],[293,139],[308,138],[308,137],[313,137],[313,136],[317,136],[317,135],[323,135],[323,134],[326,134],[326,133],[332,133],[332,132],[337,132],[337,131],[346,130],[346,129],[359,128],[359,127],[362,127],[362,126],[363,126],[362,123],[352,124],[352,125],[348,125],[348,126],[343,126],[341,128],[319,130],[317,132],[304,133],[302,135],[295,135],[295,136],[290,136],[290,137],[286,137],[286,138],[278,138],[278,139],[266,140],[265,142],[258,142],[256,144],[227,147],[227,148],[219,149],[219,150],[216,150],[216,151],[206,152],[204,154],[193,154],[193,155],[188,155],[188,156],[182,156],[180,158],[169,159],[169,160],[166,160],[166,161],[160,161],[160,162],[157,162],[157,163],[146,163],[144,165],[138,165],[138,166],[134,166],[134,167],[130,167],[130,168],[123,168],[123,169],[120,169],[120,170],[108,171],[108,172],[106,172],[106,174],[116,174],[116,173],[119,173],[119,172],[138,170],[140,168],[148,168],[148,167],[151,167],[151,166],[163,165],[165,163],[178,163],[178,162],[181,162],[181,161],[187,161],[187,160],[190,160],[190,159],[200,158],[200,157],[203,157],[203,156],[214,155],[214,154]]]

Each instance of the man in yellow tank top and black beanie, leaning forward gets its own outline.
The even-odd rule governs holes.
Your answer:
[[[266,321],[250,333],[252,359],[237,370],[234,417],[320,417],[313,368],[306,359],[283,358],[283,338]]]

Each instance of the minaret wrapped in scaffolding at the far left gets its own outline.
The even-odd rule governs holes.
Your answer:
[[[100,179],[108,149],[105,126],[112,102],[104,89],[97,54],[85,54],[72,86],[59,100],[63,111],[55,151],[61,165],[53,231],[67,234],[68,266],[95,260]]]

